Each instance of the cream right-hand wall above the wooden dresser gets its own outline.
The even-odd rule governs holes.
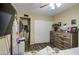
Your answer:
[[[67,23],[67,26],[73,26],[71,25],[72,19],[76,19],[76,26],[79,28],[79,4],[54,16],[55,23]]]

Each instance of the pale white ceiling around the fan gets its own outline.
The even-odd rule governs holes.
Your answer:
[[[45,4],[47,3],[14,3],[13,5],[17,11],[23,12],[25,14],[39,14],[39,15],[53,16],[76,5],[77,3],[63,3],[61,7],[55,10],[52,10],[49,7],[49,5],[40,8],[40,6],[43,6]]]

